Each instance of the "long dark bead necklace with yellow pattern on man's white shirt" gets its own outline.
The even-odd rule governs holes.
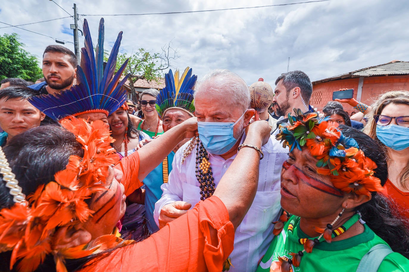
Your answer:
[[[209,162],[209,154],[203,146],[202,142],[198,142],[196,146],[196,179],[199,182],[200,200],[205,200],[211,197],[214,192],[213,172]]]

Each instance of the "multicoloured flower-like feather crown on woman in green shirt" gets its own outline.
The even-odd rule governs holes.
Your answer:
[[[370,195],[382,190],[380,179],[373,175],[377,165],[365,157],[355,139],[342,134],[337,122],[330,121],[330,117],[318,119],[315,112],[303,115],[296,108],[294,112],[296,116],[289,113],[290,124],[281,124],[276,136],[284,147],[288,146],[291,152],[305,146],[318,159],[317,172],[329,175],[334,186],[343,192]]]

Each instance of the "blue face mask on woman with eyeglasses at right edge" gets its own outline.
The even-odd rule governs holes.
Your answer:
[[[409,147],[409,128],[389,124],[376,126],[376,136],[387,147],[400,151]]]

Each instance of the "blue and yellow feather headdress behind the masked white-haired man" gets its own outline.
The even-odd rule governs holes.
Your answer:
[[[193,104],[193,86],[195,86],[197,75],[192,75],[192,69],[184,69],[179,79],[179,70],[165,74],[165,88],[156,97],[156,110],[163,118],[165,112],[172,108],[182,109],[194,116],[195,105]]]

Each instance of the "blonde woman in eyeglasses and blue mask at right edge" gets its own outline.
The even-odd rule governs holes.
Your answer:
[[[409,218],[409,92],[385,93],[372,106],[365,130],[387,150],[383,193],[396,203],[398,214]]]

